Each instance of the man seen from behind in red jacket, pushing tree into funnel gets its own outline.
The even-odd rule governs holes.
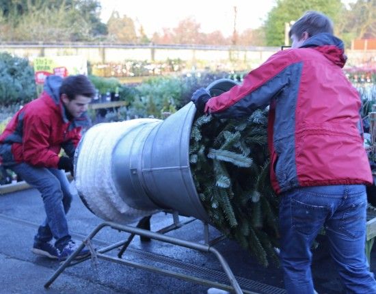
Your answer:
[[[269,105],[271,183],[280,202],[280,257],[288,293],[314,293],[310,246],[322,227],[346,293],[376,293],[365,254],[366,188],[361,101],[343,73],[343,42],[332,21],[307,12],[291,27],[292,49],[272,55],[241,85],[192,101],[217,118]]]

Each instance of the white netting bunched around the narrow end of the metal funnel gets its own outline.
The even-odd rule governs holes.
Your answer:
[[[155,121],[157,120],[137,119],[97,124],[85,133],[79,145],[75,170],[76,187],[98,217],[129,224],[140,217],[157,213],[126,204],[119,195],[112,176],[112,155],[116,144],[135,126]]]

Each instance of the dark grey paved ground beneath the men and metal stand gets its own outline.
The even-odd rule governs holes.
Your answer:
[[[53,282],[49,289],[44,284],[51,278],[59,263],[31,253],[33,235],[44,219],[42,200],[38,191],[27,189],[0,196],[0,293],[206,293],[208,286],[186,282],[133,267],[98,260],[86,260],[74,267],[68,267]],[[188,219],[181,217],[183,221]],[[75,196],[68,223],[72,235],[82,240],[102,221],[90,213]],[[172,216],[159,213],[151,219],[152,230],[158,230],[172,223]],[[210,235],[219,233],[210,228]],[[203,226],[195,220],[168,236],[193,242],[203,240]],[[106,228],[94,238],[96,248],[123,241],[129,236]],[[314,283],[320,294],[342,293],[334,265],[327,252],[325,238],[314,251],[312,271]],[[243,289],[256,293],[285,293],[280,269],[260,267],[247,252],[234,241],[224,240],[215,245],[223,254]],[[113,250],[116,256],[118,250]],[[192,274],[228,284],[218,260],[213,254],[181,248],[159,241],[140,242],[135,237],[124,258],[130,262],[142,263]],[[371,269],[376,271],[376,254],[372,254]]]

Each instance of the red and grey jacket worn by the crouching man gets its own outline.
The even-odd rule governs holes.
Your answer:
[[[40,97],[20,109],[0,135],[0,159],[3,165],[26,162],[57,168],[60,148],[72,157],[81,138],[81,129],[90,125],[85,113],[68,120],[59,98],[62,78],[49,76]]]

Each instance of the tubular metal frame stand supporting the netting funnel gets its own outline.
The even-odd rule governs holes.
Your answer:
[[[211,245],[209,244],[209,225],[208,224],[204,223],[204,241],[206,242],[205,244],[186,241],[186,240],[177,239],[177,238],[174,238],[174,237],[163,235],[165,232],[170,232],[171,230],[175,230],[176,228],[180,228],[181,226],[184,226],[185,224],[188,224],[189,222],[193,222],[195,220],[194,218],[191,218],[191,219],[188,219],[186,222],[182,223],[182,222],[179,221],[177,213],[173,213],[173,217],[174,217],[174,224],[167,226],[167,227],[165,227],[165,228],[163,228],[163,229],[161,229],[157,232],[150,231],[150,217],[144,217],[143,219],[141,219],[136,227],[120,225],[120,224],[116,224],[116,223],[113,223],[113,222],[103,222],[102,224],[99,224],[88,235],[88,237],[85,238],[83,243],[81,243],[81,245],[79,245],[79,248],[77,248],[77,250],[75,252],[73,252],[73,254],[70,255],[67,260],[65,260],[65,262],[59,267],[59,269],[57,269],[57,271],[55,271],[53,276],[46,282],[46,284],[44,284],[44,287],[49,288],[49,286],[51,286],[51,284],[57,279],[57,277],[60,275],[60,273],[62,273],[64,271],[64,269],[66,269],[66,267],[77,265],[77,263],[81,263],[85,260],[88,260],[89,258],[92,258],[92,261],[96,265],[97,260],[99,258],[99,259],[111,261],[113,263],[120,263],[122,265],[129,265],[131,267],[135,267],[135,268],[138,268],[138,269],[147,269],[148,271],[152,271],[152,272],[155,272],[155,273],[162,273],[165,276],[172,276],[174,278],[180,278],[181,280],[186,280],[186,281],[189,281],[189,282],[195,282],[197,284],[202,284],[204,286],[213,286],[217,289],[223,289],[223,290],[230,291],[230,292],[237,293],[237,294],[241,294],[241,293],[252,294],[252,293],[254,293],[254,292],[250,292],[250,291],[242,291],[242,289],[240,288],[236,278],[234,277],[234,274],[232,273],[227,261],[225,260],[224,256],[222,256],[215,248],[211,247]],[[129,238],[126,241],[120,241],[120,242],[114,243],[112,245],[109,245],[105,248],[100,248],[98,250],[94,250],[94,247],[92,245],[92,239],[95,237],[95,235],[100,230],[102,230],[103,228],[106,228],[106,227],[113,228],[113,230],[128,232],[128,233],[131,233],[131,235],[129,236]],[[190,248],[190,249],[193,249],[193,250],[198,250],[198,251],[202,251],[202,252],[211,252],[211,253],[215,254],[217,259],[219,260],[219,263],[223,267],[226,275],[228,276],[228,279],[230,280],[231,286],[229,286],[227,284],[221,284],[219,282],[213,282],[211,280],[205,280],[205,279],[202,279],[202,278],[197,278],[197,277],[194,277],[194,276],[188,276],[188,275],[185,275],[183,273],[176,273],[174,271],[169,271],[169,270],[166,270],[166,269],[161,269],[161,268],[150,266],[150,265],[143,265],[143,264],[140,264],[140,263],[135,263],[135,262],[130,261],[130,260],[122,259],[122,254],[125,252],[126,248],[128,248],[128,245],[131,243],[131,241],[133,240],[133,237],[135,237],[135,235],[139,235],[139,237],[143,241],[149,241],[150,239],[155,239],[157,241],[162,241],[162,242],[165,242],[165,243],[170,243],[170,244],[182,246],[182,247],[185,247],[185,248]],[[218,241],[218,240],[219,239],[217,238],[216,241]],[[85,247],[85,245],[90,250],[90,253],[91,253],[90,256],[88,256],[86,258],[82,258],[81,260],[75,260],[75,257],[77,256],[77,254],[79,254],[79,252]],[[105,254],[106,252],[109,252],[109,251],[111,251],[115,248],[120,248],[120,246],[122,246],[122,248],[120,249],[120,252],[118,253],[117,257],[113,257],[113,256],[109,256],[109,255]],[[74,263],[72,263],[73,260],[75,260]],[[254,293],[254,294],[256,294],[256,293]]]

